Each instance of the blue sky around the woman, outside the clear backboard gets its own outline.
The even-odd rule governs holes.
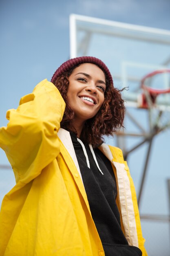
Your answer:
[[[0,126],[7,124],[7,109],[17,108],[20,97],[30,93],[39,81],[45,78],[50,80],[56,68],[69,58],[71,13],[170,30],[169,0],[1,0]],[[130,140],[129,144],[132,143]],[[167,160],[169,145],[169,130],[154,140],[141,204],[142,213],[168,214],[166,179],[170,178]],[[137,191],[140,175],[136,170],[141,173],[141,158],[146,149],[144,145],[128,159]],[[0,150],[0,164],[7,163]],[[160,173],[164,175],[162,178]],[[0,179],[2,200],[2,194],[13,186],[14,178],[11,171],[1,170]],[[5,183],[4,179],[8,182]],[[142,221],[142,225],[149,255],[167,256],[170,249],[168,223]],[[161,241],[163,232],[166,232],[166,241]],[[154,250],[155,243],[159,248]]]

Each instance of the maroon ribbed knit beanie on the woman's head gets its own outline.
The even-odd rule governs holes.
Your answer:
[[[77,57],[77,58],[71,58],[70,60],[64,62],[53,74],[53,77],[51,79],[52,83],[55,83],[57,77],[61,76],[64,72],[67,72],[70,70],[72,67],[76,67],[79,64],[83,63],[92,63],[97,65],[101,70],[105,73],[109,83],[113,85],[113,79],[110,74],[110,71],[108,70],[108,67],[99,60],[98,58],[95,57],[90,57],[90,56],[83,56],[83,57]]]

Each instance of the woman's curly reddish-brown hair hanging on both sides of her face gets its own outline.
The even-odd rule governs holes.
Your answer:
[[[81,65],[81,64],[80,64]],[[64,111],[63,119],[60,126],[64,129],[71,129],[77,135],[75,128],[72,126],[72,120],[74,118],[74,111],[67,101],[67,91],[69,81],[68,78],[73,70],[79,65],[73,67],[68,72],[65,72],[59,76],[54,85],[60,91],[65,103],[66,108]],[[114,88],[112,84],[109,84],[106,78],[106,90],[104,92],[104,102],[99,109],[95,117],[86,120],[84,128],[81,133],[80,139],[84,143],[91,143],[93,147],[97,147],[103,143],[104,135],[113,135],[123,126],[125,106],[124,100],[121,97],[121,91]]]

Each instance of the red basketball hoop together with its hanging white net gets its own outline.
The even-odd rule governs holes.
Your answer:
[[[163,75],[164,80],[166,79],[166,88],[153,88],[152,82],[158,75]],[[138,107],[148,110],[150,129],[160,132],[170,127],[170,70],[157,70],[144,76],[141,90]]]

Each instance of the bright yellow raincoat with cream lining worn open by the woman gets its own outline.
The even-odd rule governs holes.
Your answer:
[[[65,103],[46,79],[9,110],[0,147],[16,185],[0,211],[0,256],[104,256],[68,131],[60,128]],[[135,188],[119,148],[102,144],[117,180],[121,228],[146,256]]]

